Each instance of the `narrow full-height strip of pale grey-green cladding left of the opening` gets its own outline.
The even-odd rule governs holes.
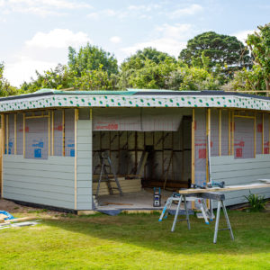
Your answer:
[[[80,113],[76,124],[76,209],[92,210],[92,120],[90,116],[80,120]]]

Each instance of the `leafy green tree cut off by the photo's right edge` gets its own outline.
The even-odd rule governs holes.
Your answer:
[[[254,66],[259,67],[266,84],[270,90],[270,23],[257,27],[259,32],[247,36],[247,46],[254,57]],[[268,93],[267,93],[268,95]]]

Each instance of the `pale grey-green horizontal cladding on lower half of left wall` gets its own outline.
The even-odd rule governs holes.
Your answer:
[[[74,157],[4,155],[5,199],[74,209]]]

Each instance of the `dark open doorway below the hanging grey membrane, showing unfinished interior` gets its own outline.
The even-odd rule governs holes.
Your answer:
[[[117,175],[123,196],[110,190],[106,182],[97,196],[100,209],[157,209],[153,207],[153,188],[161,188],[162,204],[179,188],[191,184],[192,117],[184,115],[177,130],[163,131],[94,131],[93,194],[101,174],[101,154],[112,161],[107,173],[116,187]]]

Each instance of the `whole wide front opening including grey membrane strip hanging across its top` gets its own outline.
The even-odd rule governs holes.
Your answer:
[[[152,111],[152,117],[150,114],[146,123],[143,123],[144,112],[140,109],[138,120],[131,115],[130,119],[123,121],[121,115],[125,112],[121,109],[118,112],[115,117],[112,116],[113,110],[109,109],[94,114],[93,194],[96,194],[101,175],[102,156],[110,157],[112,162],[112,166],[107,160],[104,164],[114,188],[110,194],[103,171],[104,182],[97,196],[98,208],[157,209],[153,207],[154,188],[157,191],[160,187],[164,205],[173,191],[191,184],[192,112],[166,109],[167,117],[162,119],[158,117],[162,112],[157,110],[152,114]],[[107,113],[110,116],[106,117]],[[113,173],[117,175],[123,196],[115,188]]]

